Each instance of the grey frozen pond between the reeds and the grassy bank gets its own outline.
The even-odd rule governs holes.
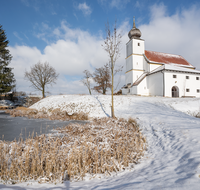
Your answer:
[[[63,127],[69,123],[85,123],[84,121],[51,121],[47,119],[28,119],[25,117],[11,117],[0,112],[0,140],[13,141],[22,137],[24,140],[29,134],[34,136],[51,133],[53,128]]]

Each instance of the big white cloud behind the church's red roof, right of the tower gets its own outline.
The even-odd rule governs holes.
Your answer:
[[[150,8],[150,22],[139,26],[146,49],[178,54],[200,70],[200,8],[169,15],[164,4]]]

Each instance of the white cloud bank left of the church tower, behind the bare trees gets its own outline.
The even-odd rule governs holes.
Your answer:
[[[120,30],[126,27],[127,22],[121,26]],[[47,30],[49,31],[48,27]],[[94,68],[102,67],[108,62],[108,55],[101,46],[102,37],[92,36],[89,32],[80,29],[69,28],[64,21],[59,28],[52,30],[50,35],[56,35],[59,40],[48,44],[42,51],[43,53],[36,47],[10,47],[13,56],[11,67],[14,68],[17,79],[17,90],[33,92],[34,90],[29,88],[30,84],[24,81],[24,72],[30,70],[30,67],[38,61],[47,61],[60,74],[57,84],[52,88],[49,87],[47,91],[52,94],[88,94],[87,87],[80,82],[83,71],[87,69],[93,72]],[[123,38],[123,51],[119,64],[124,64],[124,44],[128,40],[127,37],[125,38],[125,40]]]

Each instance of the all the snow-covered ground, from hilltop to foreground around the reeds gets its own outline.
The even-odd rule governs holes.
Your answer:
[[[115,115],[137,118],[148,150],[132,171],[64,184],[0,184],[0,189],[200,189],[200,99],[115,96]],[[109,117],[110,96],[51,96],[32,108]],[[189,115],[190,114],[190,115]]]

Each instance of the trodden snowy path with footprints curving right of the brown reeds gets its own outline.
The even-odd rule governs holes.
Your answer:
[[[129,102],[127,113],[125,110],[121,112],[130,115],[129,110],[132,110],[132,114],[139,118],[143,126],[143,133],[149,144],[147,158],[134,171],[124,172],[105,181],[71,184],[71,187],[200,189],[200,119],[144,101]]]

